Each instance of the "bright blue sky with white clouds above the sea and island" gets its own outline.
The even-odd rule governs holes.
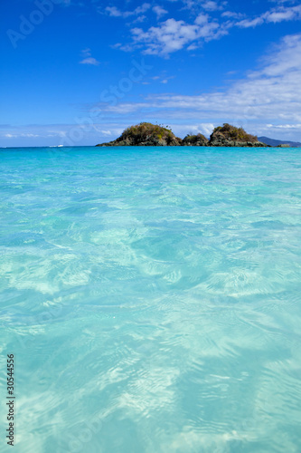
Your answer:
[[[3,0],[0,146],[94,145],[152,121],[301,141],[294,0]]]

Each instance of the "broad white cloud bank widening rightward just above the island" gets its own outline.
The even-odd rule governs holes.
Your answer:
[[[296,131],[293,125],[301,123],[300,54],[301,34],[287,35],[265,58],[260,70],[249,72],[245,79],[233,82],[223,92],[197,96],[151,94],[137,104],[108,106],[108,111],[122,113],[125,108],[127,113],[143,111],[146,116],[149,112],[156,118],[162,115],[166,120],[228,120],[247,124],[250,132],[262,135],[268,130],[268,126],[264,126],[267,124]],[[300,135],[295,140],[300,140]]]

